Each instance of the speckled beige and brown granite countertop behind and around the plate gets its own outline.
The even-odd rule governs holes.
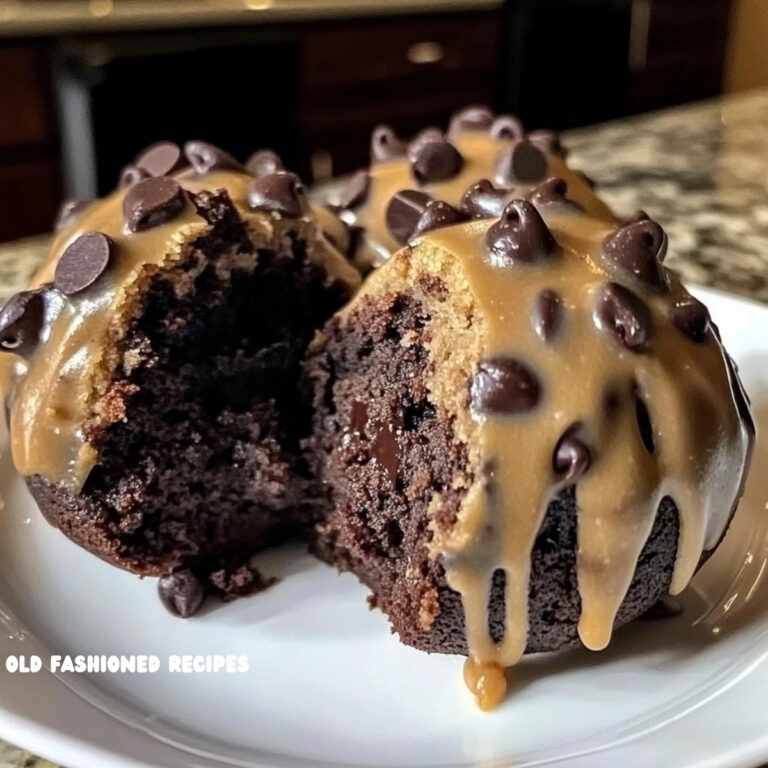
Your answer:
[[[768,91],[564,136],[569,160],[620,214],[644,209],[685,280],[768,302]],[[24,287],[48,238],[0,246],[0,298]],[[0,742],[0,768],[52,768]]]

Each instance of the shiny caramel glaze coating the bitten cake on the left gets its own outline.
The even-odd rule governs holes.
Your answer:
[[[307,240],[308,257],[325,267],[329,282],[339,279],[352,287],[359,284],[357,271],[321,234],[312,209],[301,218],[253,211],[246,199],[253,179],[245,172],[212,170],[199,175],[188,168],[173,178],[190,193],[226,190],[246,223],[253,249],[288,248],[288,235],[295,234]],[[46,291],[35,349],[23,357],[0,355],[0,381],[16,469],[24,476],[41,475],[74,492],[98,461],[97,448],[88,439],[91,428],[120,416],[109,412],[104,395],[121,362],[120,340],[141,311],[144,286],[159,270],[185,260],[194,251],[195,241],[211,231],[211,225],[187,200],[172,220],[130,232],[123,215],[127,193],[128,188],[118,189],[95,201],[59,232],[31,287],[52,283],[67,246],[92,231],[107,235],[114,243],[104,273],[74,295]],[[328,215],[325,210],[316,213],[323,220]],[[253,269],[255,258],[251,250],[230,254],[223,263]],[[177,291],[190,288],[175,286]]]

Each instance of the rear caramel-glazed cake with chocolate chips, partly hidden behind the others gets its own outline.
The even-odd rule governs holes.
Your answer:
[[[404,245],[422,214],[443,225],[498,217],[507,202],[553,177],[565,181],[574,204],[615,221],[565,154],[552,131],[526,133],[513,115],[467,107],[453,116],[447,134],[425,128],[404,142],[389,126],[375,128],[370,166],[353,174],[333,202],[347,223],[362,228],[354,261],[363,271]]]

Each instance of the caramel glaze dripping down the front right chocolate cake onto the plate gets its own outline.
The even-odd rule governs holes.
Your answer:
[[[515,205],[530,214],[519,203],[507,210]],[[472,297],[471,323],[481,338],[482,360],[474,372],[467,371],[472,394],[466,407],[457,410],[455,400],[445,399],[440,371],[432,387],[435,404],[454,424],[457,440],[470,446],[477,479],[455,525],[435,527],[430,554],[441,560],[448,584],[461,595],[469,647],[465,680],[484,709],[503,698],[504,670],[525,651],[531,553],[558,491],[575,484],[582,606],[578,632],[587,648],[601,650],[611,639],[661,500],[671,497],[679,512],[670,588],[677,594],[703,553],[725,533],[743,489],[754,436],[716,328],[677,276],[656,261],[661,282],[653,284],[617,265],[604,244],[617,226],[606,219],[562,205],[541,206],[539,212],[553,238],[549,254],[528,263],[505,263],[489,250],[489,229],[496,223],[468,222],[416,238],[358,295],[361,300],[370,290],[382,289],[386,274],[395,277],[403,269],[398,262],[407,259],[413,274],[446,275],[452,261],[459,264]],[[513,237],[527,226],[520,220],[513,224]],[[614,315],[601,314],[609,283],[618,283],[621,288],[614,290],[619,292],[629,289],[645,306],[647,314],[640,313],[644,338],[626,317],[611,326]],[[556,332],[542,334],[545,292],[559,297],[559,319]],[[673,314],[691,302],[699,323],[673,322]],[[485,391],[489,408],[476,407],[474,396],[478,370],[485,361],[498,360],[517,366],[499,369],[512,377],[511,389],[517,387],[506,412],[503,391]],[[521,369],[527,371],[522,378]],[[565,436],[571,442],[560,456]],[[506,629],[495,643],[488,609],[497,570],[506,575]]]

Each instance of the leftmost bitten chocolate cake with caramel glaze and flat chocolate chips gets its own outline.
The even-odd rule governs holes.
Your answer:
[[[299,179],[271,153],[248,165],[153,145],[117,191],[63,208],[0,314],[13,461],[41,510],[163,576],[184,616],[262,586],[248,558],[316,514],[300,363],[360,281]]]

